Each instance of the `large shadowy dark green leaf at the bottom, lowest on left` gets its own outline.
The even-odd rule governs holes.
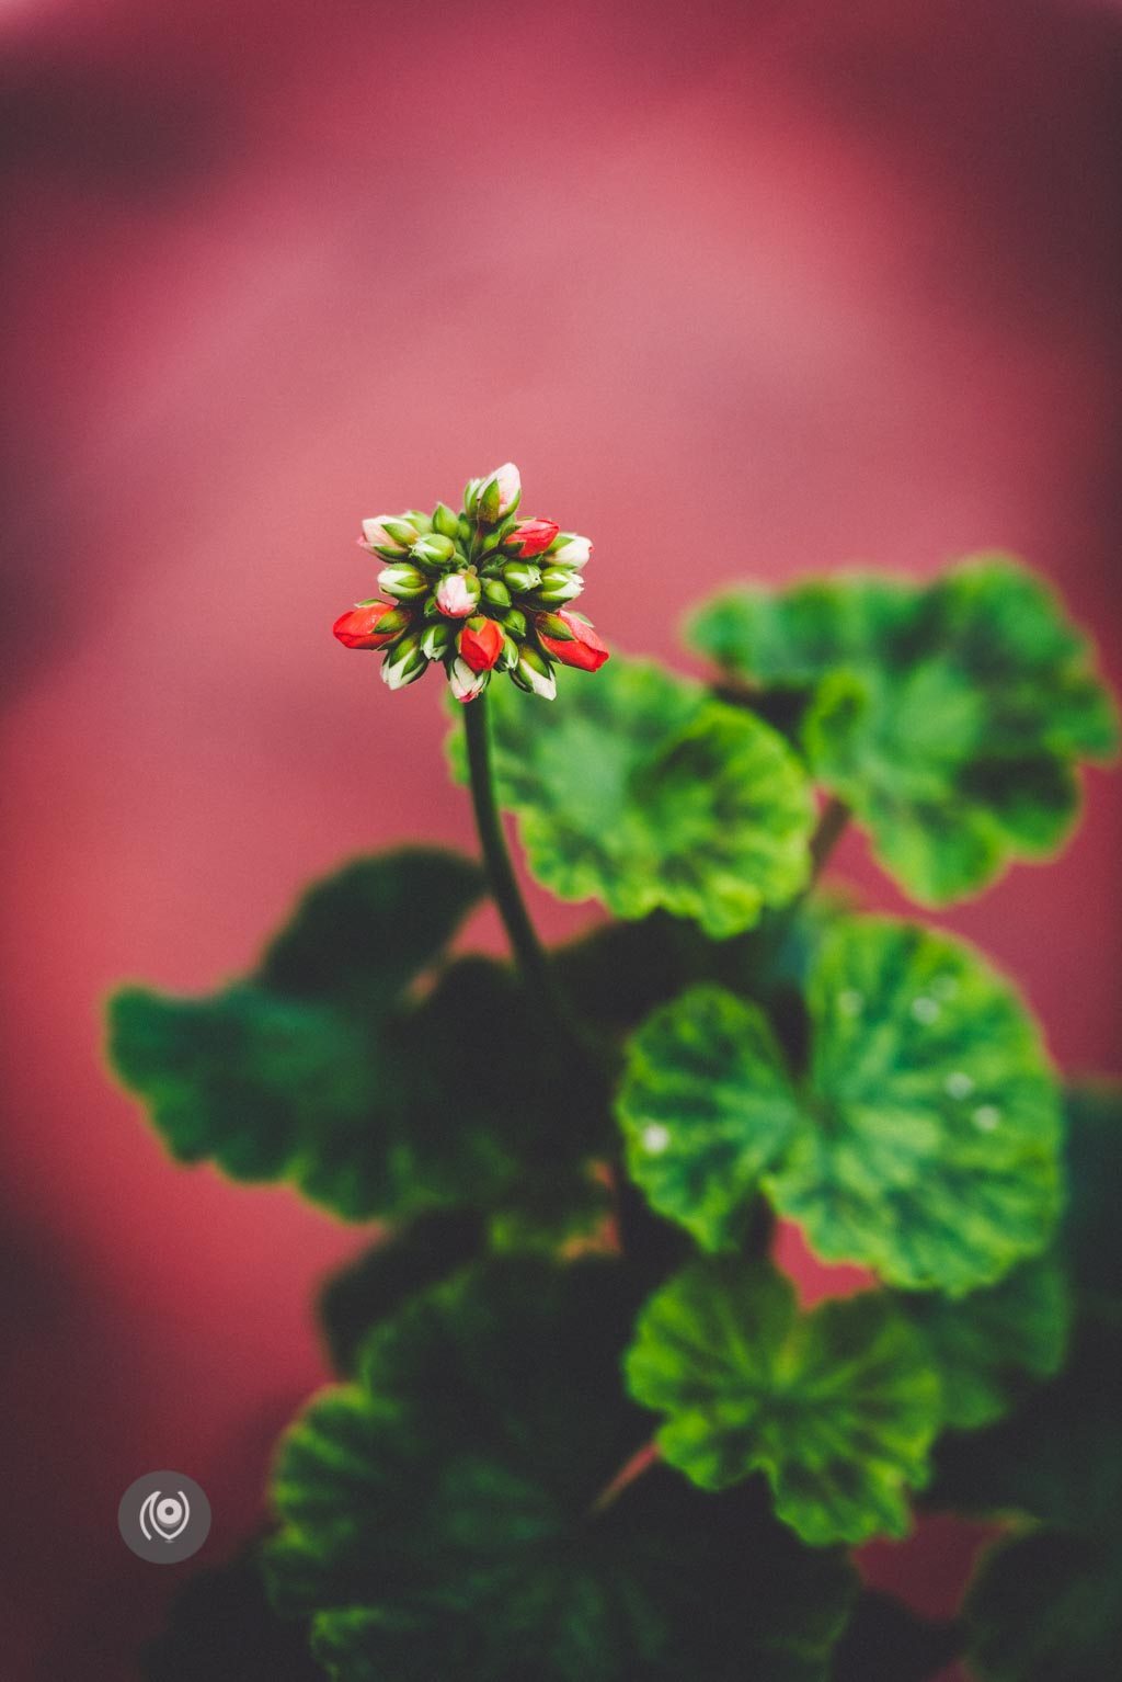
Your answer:
[[[312,1403],[269,1566],[336,1682],[826,1682],[842,1558],[658,1465],[598,1500],[643,1441],[633,1312],[618,1262],[490,1262],[376,1327],[359,1383]]]

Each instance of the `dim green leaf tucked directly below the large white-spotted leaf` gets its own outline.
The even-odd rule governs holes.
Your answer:
[[[897,1300],[927,1339],[942,1383],[944,1423],[961,1431],[993,1425],[1025,1391],[1026,1378],[1051,1378],[1063,1364],[1070,1302],[1051,1255],[957,1302],[937,1292]]]

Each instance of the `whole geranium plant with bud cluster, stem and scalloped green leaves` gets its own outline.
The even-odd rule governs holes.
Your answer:
[[[818,886],[850,821],[920,907],[1055,853],[1115,742],[1088,648],[986,555],[721,595],[692,681],[608,659],[590,542],[519,500],[507,464],[364,521],[378,595],[334,626],[391,690],[447,678],[482,868],[356,860],[244,979],[113,1001],[178,1161],[380,1223],[270,1534],[148,1674],[1104,1682],[1117,1098],[1062,1090],[981,952]],[[543,949],[502,811],[610,922]],[[485,893],[509,962],[454,950]],[[803,1307],[778,1221],[867,1287]],[[917,1509],[1001,1515],[951,1625],[850,1559]]]

